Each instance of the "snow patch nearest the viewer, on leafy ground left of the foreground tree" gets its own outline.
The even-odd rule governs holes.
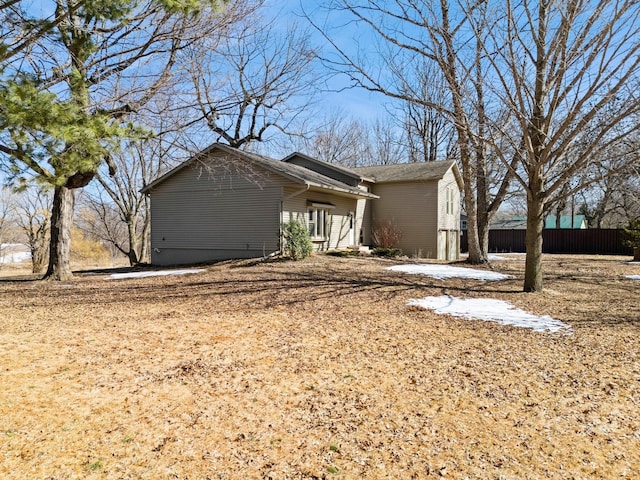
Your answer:
[[[456,298],[450,295],[409,300],[408,305],[433,310],[442,315],[452,315],[469,320],[485,320],[502,325],[531,328],[538,332],[558,332],[571,327],[547,315],[538,316],[515,308],[508,302],[489,298]]]

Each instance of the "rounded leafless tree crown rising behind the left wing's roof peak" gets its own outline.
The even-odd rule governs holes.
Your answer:
[[[258,9],[222,40],[203,37],[190,49],[188,74],[197,110],[217,141],[235,148],[290,135],[308,113],[321,76],[310,36],[297,25],[283,28]]]

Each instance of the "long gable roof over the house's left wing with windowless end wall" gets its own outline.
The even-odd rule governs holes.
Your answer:
[[[191,165],[196,160],[201,160],[203,157],[206,157],[207,154],[215,150],[222,151],[229,155],[233,155],[241,160],[262,167],[265,170],[281,175],[294,183],[299,183],[302,185],[307,185],[308,187],[315,187],[322,190],[331,190],[334,192],[347,194],[350,196],[357,196],[360,198],[378,198],[377,195],[373,195],[359,188],[346,185],[342,182],[339,182],[338,180],[334,180],[333,178],[329,178],[325,175],[314,172],[313,170],[309,170],[308,168],[300,167],[298,165],[283,162],[280,160],[274,160],[273,158],[265,157],[255,153],[244,152],[242,150],[238,150],[237,148],[233,148],[221,143],[214,143],[212,145],[209,145],[200,153],[181,163],[173,170],[165,173],[160,178],[143,187],[140,191],[142,193],[149,193],[151,190],[153,190],[153,188],[163,183],[168,178],[181,171],[183,168]]]

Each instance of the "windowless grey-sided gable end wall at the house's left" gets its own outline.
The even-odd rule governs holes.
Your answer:
[[[152,191],[152,263],[267,255],[279,248],[283,180],[226,157],[186,166]]]

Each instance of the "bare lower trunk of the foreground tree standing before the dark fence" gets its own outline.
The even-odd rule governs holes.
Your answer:
[[[534,189],[535,192],[535,189]],[[542,229],[544,201],[539,196],[527,196],[527,256],[524,272],[524,291],[542,291]]]

